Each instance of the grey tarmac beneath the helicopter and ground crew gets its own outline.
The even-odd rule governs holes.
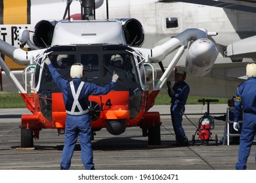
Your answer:
[[[210,105],[209,113],[221,116],[226,105]],[[238,144],[223,145],[224,122],[215,120],[211,130],[212,141],[202,143],[195,134],[198,121],[207,105],[186,105],[183,127],[190,146],[176,147],[175,134],[169,115],[169,105],[156,105],[150,111],[161,114],[161,144],[148,146],[148,137],[142,136],[140,127],[129,127],[121,135],[111,135],[102,129],[93,141],[94,163],[97,170],[234,170],[238,159]],[[56,129],[40,131],[34,148],[20,150],[20,116],[30,114],[26,108],[0,109],[0,170],[59,170],[64,135]],[[196,143],[192,142],[192,135]],[[217,144],[215,142],[217,137]],[[253,142],[247,169],[255,170],[256,146]],[[79,142],[72,158],[71,170],[83,170]]]

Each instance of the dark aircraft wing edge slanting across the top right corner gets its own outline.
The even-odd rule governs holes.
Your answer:
[[[194,3],[199,5],[208,5],[212,7],[228,8],[232,10],[242,10],[245,12],[256,12],[256,1],[255,0],[245,0],[245,1],[232,1],[232,0],[180,0],[180,1],[171,1],[171,0],[158,0],[161,3],[173,3],[173,2],[183,2],[183,3]]]

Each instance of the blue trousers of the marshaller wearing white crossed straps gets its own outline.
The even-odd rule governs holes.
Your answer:
[[[65,142],[60,166],[65,170],[70,169],[71,158],[79,135],[81,146],[81,159],[85,169],[94,169],[93,150],[91,148],[91,122],[89,114],[79,116],[68,115],[65,127]]]

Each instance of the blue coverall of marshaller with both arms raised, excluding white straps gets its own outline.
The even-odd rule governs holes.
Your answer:
[[[54,82],[56,82],[58,88],[60,88],[62,92],[66,111],[70,110],[70,108],[72,108],[70,105],[72,105],[74,102],[74,97],[70,88],[70,82],[62,78],[62,76],[58,73],[57,69],[52,64],[49,64],[48,67],[53,76]],[[77,92],[77,88],[79,88],[79,84],[81,84],[82,80],[81,78],[74,78],[72,81],[74,83],[75,92]],[[83,110],[86,111],[88,108],[87,104],[89,95],[104,95],[110,92],[110,90],[112,90],[115,85],[116,82],[111,82],[105,87],[100,87],[96,84],[85,82],[81,92],[79,93],[78,101],[81,104],[80,106],[83,108]],[[77,107],[75,107],[75,110],[78,111]],[[74,153],[78,135],[81,146],[81,160],[83,161],[83,165],[85,169],[95,169],[95,165],[93,163],[93,150],[91,147],[91,120],[88,112],[81,115],[67,114],[65,141],[60,167],[61,169],[70,169],[71,158]]]

